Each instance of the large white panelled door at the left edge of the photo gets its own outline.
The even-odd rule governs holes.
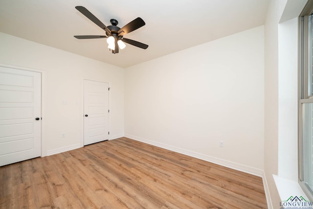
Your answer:
[[[40,156],[41,73],[0,67],[0,166]]]

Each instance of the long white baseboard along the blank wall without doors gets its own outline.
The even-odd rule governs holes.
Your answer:
[[[255,175],[255,176],[259,176],[259,177],[263,177],[264,171],[262,169],[250,167],[250,166],[243,165],[243,164],[240,164],[240,163],[234,163],[234,162],[231,162],[231,161],[226,161],[226,160],[223,160],[223,159],[220,159],[220,158],[215,158],[215,157],[212,157],[212,156],[209,156],[209,155],[204,155],[204,154],[193,152],[193,151],[190,151],[190,150],[181,149],[179,147],[175,147],[175,146],[159,143],[159,142],[148,140],[148,139],[143,139],[143,138],[140,138],[140,137],[135,137],[135,136],[132,136],[132,135],[129,135],[129,134],[125,134],[125,137],[130,138],[130,139],[134,139],[134,140],[137,140],[137,141],[141,141],[141,142],[144,142],[144,143],[148,143],[148,144],[151,144],[151,145],[155,145],[155,146],[158,146],[158,147],[161,147],[161,148],[164,148],[164,149],[168,149],[168,150],[171,150],[171,151],[174,151],[174,152],[178,152],[180,154],[184,154],[184,155],[188,155],[188,156],[191,156],[191,157],[194,157],[194,158],[198,158],[198,159],[210,162],[210,163],[219,164],[219,165],[222,165],[222,166],[225,166],[225,167],[228,167],[228,168],[232,168],[232,169],[235,169],[235,170],[238,170],[238,171],[242,171],[242,172],[249,173],[249,174],[252,174],[252,175]]]

